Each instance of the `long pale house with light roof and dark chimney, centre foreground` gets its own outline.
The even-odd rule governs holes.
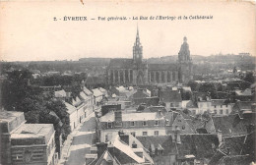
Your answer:
[[[118,131],[134,137],[165,136],[165,120],[159,112],[122,113],[111,111],[99,120],[100,141],[107,142],[116,137]]]

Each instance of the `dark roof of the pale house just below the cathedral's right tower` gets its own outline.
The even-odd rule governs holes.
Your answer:
[[[181,93],[177,90],[160,91],[161,102],[181,102]]]

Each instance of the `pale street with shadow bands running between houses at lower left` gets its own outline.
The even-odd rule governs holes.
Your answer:
[[[92,116],[85,121],[73,138],[72,145],[69,149],[68,160],[65,165],[84,165],[86,162],[85,155],[90,152],[90,146],[96,133],[96,118]]]

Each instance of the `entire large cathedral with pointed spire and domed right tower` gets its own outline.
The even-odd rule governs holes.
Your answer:
[[[107,82],[113,85],[188,83],[192,79],[192,60],[186,37],[183,38],[175,64],[148,64],[147,60],[143,59],[143,46],[138,28],[133,45],[133,58],[111,59],[107,67]]]

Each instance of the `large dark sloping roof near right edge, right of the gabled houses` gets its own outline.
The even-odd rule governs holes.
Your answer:
[[[239,136],[247,134],[246,125],[237,114],[222,117],[214,116],[212,118],[216,131],[222,131],[223,136]]]

